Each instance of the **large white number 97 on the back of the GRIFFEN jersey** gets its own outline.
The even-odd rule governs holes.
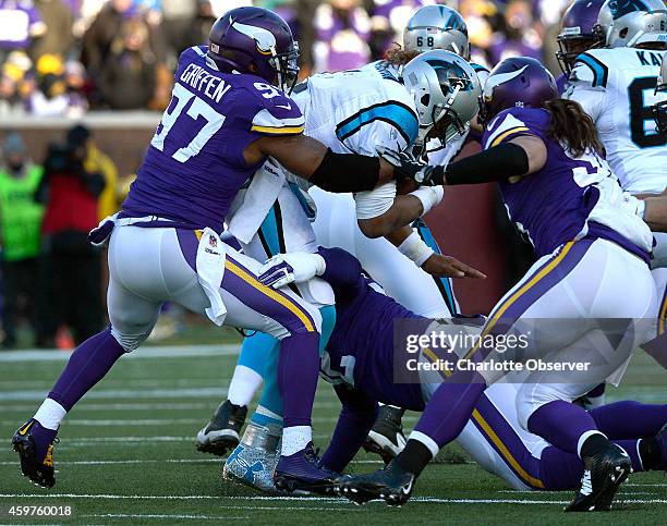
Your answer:
[[[193,100],[194,99],[194,100]],[[162,151],[165,149],[165,139],[169,135],[169,131],[173,127],[175,122],[181,117],[181,113],[187,106],[187,103],[192,100],[190,108],[187,108],[186,114],[196,121],[199,117],[203,117],[206,120],[206,124],[204,127],[199,130],[199,132],[194,136],[194,138],[190,142],[190,144],[179,148],[173,152],[171,157],[173,157],[179,162],[185,162],[193,156],[196,156],[204,145],[208,143],[210,137],[215,135],[215,133],[222,127],[225,123],[225,115],[221,115],[216,110],[214,110],[210,106],[208,106],[204,100],[199,97],[195,96],[190,89],[184,86],[177,84],[173,86],[173,93],[171,94],[171,102],[169,107],[173,106],[175,101],[175,106],[169,112],[169,108],[165,110],[162,114],[162,120],[160,121],[160,125],[158,126],[157,132],[153,136],[150,140],[150,145],[155,148]]]

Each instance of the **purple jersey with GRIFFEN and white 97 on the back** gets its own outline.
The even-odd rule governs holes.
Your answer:
[[[263,136],[303,133],[296,103],[254,75],[221,73],[207,47],[181,54],[165,111],[122,213],[222,232],[239,189],[259,168],[243,158]]]

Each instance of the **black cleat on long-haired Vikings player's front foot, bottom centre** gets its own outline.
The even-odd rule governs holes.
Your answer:
[[[402,506],[414,487],[415,477],[401,469],[395,462],[368,475],[347,475],[336,487],[336,492],[356,504],[384,499],[390,506]]]

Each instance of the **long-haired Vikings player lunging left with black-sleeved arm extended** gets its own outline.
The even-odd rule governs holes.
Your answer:
[[[583,376],[529,376],[517,409],[524,429],[583,461],[582,486],[567,510],[607,510],[631,461],[570,402],[606,378],[618,380],[614,376],[645,341],[647,329],[628,320],[655,310],[647,266],[653,237],[636,211],[623,206],[626,195],[602,158],[592,120],[579,105],[557,97],[554,77],[539,62],[508,59],[484,89],[486,150],[447,169],[410,169],[405,161],[405,172],[427,184],[499,182],[511,220],[539,259],[496,305],[483,334],[532,334],[527,353],[570,363],[595,359]],[[546,318],[553,327],[539,326]],[[537,321],[526,328],[531,319]],[[466,357],[481,367],[457,370],[435,391],[405,449],[386,469],[353,477],[343,489],[399,504],[408,500],[424,466],[456,439],[482,392],[502,374],[484,367],[487,355],[471,348]],[[485,363],[510,358],[493,352]]]

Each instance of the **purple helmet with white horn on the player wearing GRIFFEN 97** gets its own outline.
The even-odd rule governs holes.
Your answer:
[[[210,29],[208,57],[218,70],[251,73],[290,93],[299,74],[299,45],[286,21],[264,8],[238,8]]]

